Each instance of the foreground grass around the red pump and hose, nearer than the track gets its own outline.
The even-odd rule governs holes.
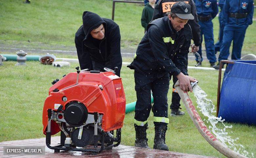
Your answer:
[[[65,58],[67,55],[60,54],[60,56]],[[132,58],[124,58],[126,62],[131,60]],[[28,66],[15,66],[15,63],[16,61],[4,61],[4,66],[0,67],[0,142],[45,137],[42,133],[42,108],[44,100],[48,96],[48,90],[52,85],[51,82],[56,78],[61,79],[63,75],[69,72],[75,72],[75,67],[78,66],[77,63],[71,63],[71,67],[56,68],[52,65],[43,65],[39,61],[27,61]],[[190,63],[190,66],[193,66],[193,61]],[[199,86],[206,92],[207,98],[211,99],[213,104],[216,105],[218,71],[189,69],[188,72],[199,80]],[[133,71],[123,65],[121,77],[126,103],[136,101]],[[170,85],[172,86],[172,81]],[[197,106],[193,93],[189,93],[189,95],[193,104]],[[170,91],[168,98],[168,104],[170,105]],[[182,103],[181,108],[186,111]],[[202,120],[207,119],[200,112],[200,109],[196,109]],[[168,115],[170,115],[170,111]],[[216,114],[213,113],[213,115]],[[122,128],[122,145],[134,146],[133,118],[134,112],[125,115]],[[170,151],[224,158],[221,153],[204,140],[187,113],[182,117],[169,116],[169,120],[166,144]],[[154,127],[152,113],[148,118],[148,123],[148,144],[150,148],[153,148]],[[204,123],[207,127],[210,125],[205,121]],[[225,123],[225,125],[233,126],[232,129],[226,129],[226,132],[232,139],[239,137],[236,144],[245,146],[245,150],[249,153],[255,153],[255,126],[238,123]],[[223,128],[222,124],[217,126]],[[11,133],[15,133],[15,135]]]

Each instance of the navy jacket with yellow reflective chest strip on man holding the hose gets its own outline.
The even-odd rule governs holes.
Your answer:
[[[181,72],[188,75],[185,56],[193,38],[189,24],[184,25],[177,35],[171,29],[168,16],[156,19],[148,24],[130,69],[136,69],[145,75],[162,77],[166,73],[173,76]],[[176,37],[177,36],[177,37]]]

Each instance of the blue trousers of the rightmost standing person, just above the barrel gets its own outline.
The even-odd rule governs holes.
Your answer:
[[[224,26],[224,34],[223,41],[221,46],[221,51],[219,55],[218,61],[227,60],[229,56],[229,47],[233,40],[233,48],[231,60],[240,60],[241,59],[241,51],[242,46],[245,39],[245,32],[247,29],[247,25],[244,27],[241,26]]]

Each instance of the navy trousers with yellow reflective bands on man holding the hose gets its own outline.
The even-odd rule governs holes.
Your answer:
[[[146,122],[152,108],[152,90],[152,95],[154,98],[154,124],[155,126],[158,124],[167,125],[169,123],[167,103],[167,94],[170,84],[169,74],[166,73],[163,77],[157,78],[157,75],[154,77],[149,77],[149,75],[142,74],[135,70],[134,79],[135,91],[137,95],[134,116],[135,124],[138,126],[147,125]],[[143,124],[140,124],[140,122],[143,122]]]

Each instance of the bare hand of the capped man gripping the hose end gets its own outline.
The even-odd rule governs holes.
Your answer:
[[[183,73],[180,73],[176,77],[179,79],[180,88],[183,91],[192,92],[192,87],[191,87],[190,81],[195,82],[195,81],[197,81],[197,79],[195,79],[193,77],[190,77],[190,76],[187,76],[187,75],[184,75]]]

